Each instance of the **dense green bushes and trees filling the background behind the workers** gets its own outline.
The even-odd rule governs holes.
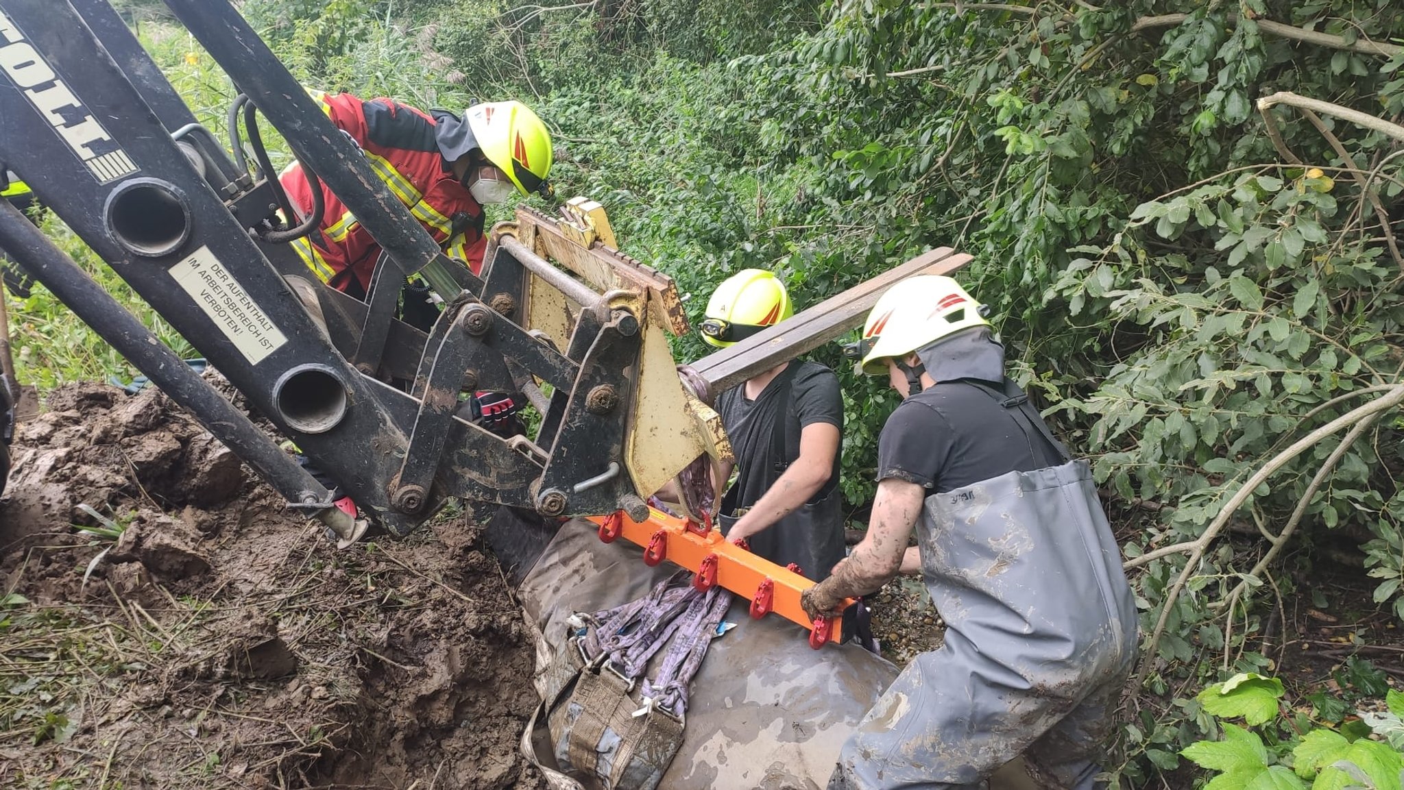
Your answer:
[[[219,123],[230,90],[208,58],[150,3],[126,6]],[[1112,766],[1129,782],[1221,731],[1184,689],[1272,671],[1261,640],[1293,592],[1285,570],[1358,547],[1353,573],[1404,617],[1398,3],[241,8],[309,84],[532,104],[557,132],[559,191],[609,206],[694,317],[743,267],[779,272],[804,306],[928,247],[973,253],[960,276],[995,307],[1019,379],[1126,516],[1146,636]],[[816,356],[842,368],[837,348]],[[856,507],[894,396],[842,375]],[[1351,664],[1344,702],[1310,703],[1275,754],[1383,696],[1380,678]]]

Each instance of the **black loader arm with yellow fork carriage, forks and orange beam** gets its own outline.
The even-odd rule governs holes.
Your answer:
[[[199,125],[105,0],[0,0],[0,161],[334,490],[0,203],[0,247],[13,260],[341,544],[369,525],[407,535],[449,497],[553,523],[590,516],[601,537],[640,542],[646,557],[751,599],[753,613],[814,626],[797,606],[812,582],[723,543],[706,514],[647,507],[695,459],[730,459],[731,448],[716,413],[677,375],[668,335],[688,321],[673,279],[618,251],[598,203],[571,199],[562,217],[518,209],[493,229],[475,275],[435,244],[229,0],[164,1],[239,91],[227,145]],[[316,209],[299,222],[286,205],[260,123],[383,250],[364,300],[329,288],[292,250],[316,230]],[[720,391],[851,330],[900,276],[966,260],[932,251],[696,369]],[[428,331],[397,313],[411,278],[444,303]],[[500,436],[476,424],[469,399],[480,390],[526,396],[535,431]],[[365,518],[334,507],[334,493]]]

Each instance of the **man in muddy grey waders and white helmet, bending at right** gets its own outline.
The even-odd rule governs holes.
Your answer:
[[[1136,606],[1088,464],[1005,377],[984,313],[953,279],[915,276],[863,327],[862,370],[906,400],[879,438],[868,535],[800,603],[833,615],[920,565],[946,633],[844,744],[831,790],[976,787],[1021,755],[1040,786],[1095,786]]]

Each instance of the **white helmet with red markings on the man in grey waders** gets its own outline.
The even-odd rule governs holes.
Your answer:
[[[869,376],[885,376],[887,358],[900,359],[960,330],[987,327],[987,313],[988,307],[949,276],[904,279],[883,293],[868,313],[858,366]]]

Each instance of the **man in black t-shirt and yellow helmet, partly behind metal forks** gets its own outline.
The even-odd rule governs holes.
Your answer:
[[[708,300],[702,338],[727,347],[793,314],[774,274],[744,269]],[[838,376],[814,362],[790,361],[722,393],[716,401],[736,453],[736,483],[717,521],[727,540],[823,580],[844,558],[838,452],[844,400]],[[720,480],[730,478],[730,464]]]

